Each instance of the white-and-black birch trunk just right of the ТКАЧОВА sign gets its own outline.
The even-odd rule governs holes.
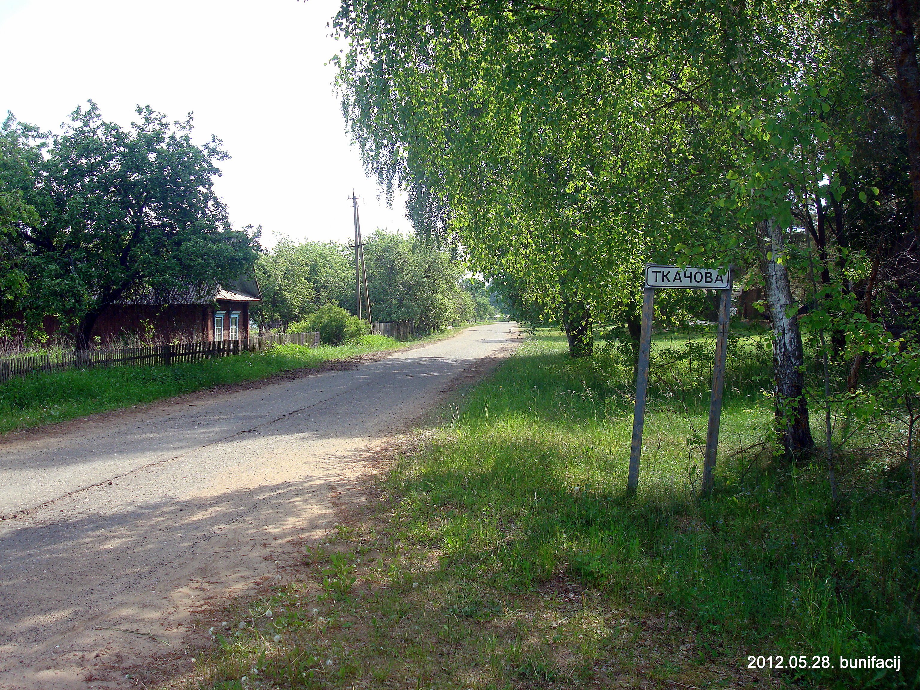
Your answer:
[[[788,457],[795,458],[814,447],[804,391],[805,357],[789,286],[782,228],[772,219],[757,225],[763,254],[766,302],[773,322],[776,433]]]

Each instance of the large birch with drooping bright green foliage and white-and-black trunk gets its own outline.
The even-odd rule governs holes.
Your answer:
[[[866,203],[845,171],[879,21],[797,0],[352,0],[339,84],[368,167],[408,191],[417,228],[555,311],[574,355],[593,318],[635,327],[646,261],[757,267],[795,454],[812,441],[790,228],[815,199]]]

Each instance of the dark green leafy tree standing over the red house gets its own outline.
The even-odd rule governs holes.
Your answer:
[[[28,281],[19,306],[33,324],[57,316],[78,346],[109,305],[207,293],[258,256],[258,230],[234,229],[213,188],[228,157],[221,142],[193,143],[191,118],[170,122],[150,107],[137,116],[122,128],[90,102],[51,138],[12,119],[4,128],[32,152],[30,174],[5,190],[34,210],[6,221],[7,256]]]

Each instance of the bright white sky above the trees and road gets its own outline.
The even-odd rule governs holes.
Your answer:
[[[349,145],[329,38],[338,0],[0,0],[0,115],[56,130],[86,99],[127,125],[137,104],[194,112],[232,159],[217,190],[234,224],[296,239],[347,241],[351,188],[362,230],[408,232]]]

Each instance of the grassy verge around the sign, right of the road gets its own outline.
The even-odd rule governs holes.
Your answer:
[[[770,453],[770,355],[736,339],[717,489],[700,500],[710,348],[659,340],[629,497],[631,361],[572,360],[538,332],[402,454],[383,512],[339,526],[294,581],[240,604],[259,625],[202,655],[200,686],[237,687],[252,665],[283,687],[748,686],[748,654],[900,656],[901,673],[756,673],[917,686],[903,466],[841,454],[833,510],[821,466]],[[288,617],[257,621],[269,605]]]

